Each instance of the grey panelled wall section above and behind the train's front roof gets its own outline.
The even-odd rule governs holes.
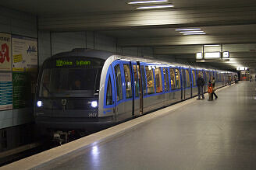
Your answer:
[[[112,53],[130,56],[152,57],[154,55],[151,47],[119,47],[115,37],[105,36],[96,31],[67,33],[39,31],[38,44],[40,65],[47,57],[74,48],[106,50]]]

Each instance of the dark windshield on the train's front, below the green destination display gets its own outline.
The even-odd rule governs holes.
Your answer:
[[[98,95],[101,68],[46,68],[41,97],[94,97]]]

